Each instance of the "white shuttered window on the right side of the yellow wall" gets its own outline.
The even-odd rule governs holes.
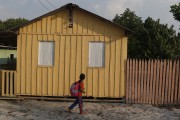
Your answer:
[[[89,67],[104,67],[105,65],[105,43],[89,43]]]

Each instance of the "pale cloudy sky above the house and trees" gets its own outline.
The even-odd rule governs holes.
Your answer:
[[[170,6],[180,0],[0,0],[0,19],[34,19],[67,3],[77,4],[92,13],[112,20],[116,14],[123,14],[126,8],[134,11],[142,20],[148,17],[160,19],[161,24],[174,25],[180,32],[180,22],[174,20]]]

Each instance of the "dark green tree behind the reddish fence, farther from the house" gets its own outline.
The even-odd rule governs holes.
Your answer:
[[[147,50],[150,51],[148,58],[174,58],[176,32],[173,26],[160,24],[160,20],[154,21],[148,17],[144,23],[145,29],[148,31],[148,40],[146,41]]]

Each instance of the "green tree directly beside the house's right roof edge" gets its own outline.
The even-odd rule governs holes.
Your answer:
[[[135,12],[126,9],[123,14],[117,14],[113,22],[126,26],[128,29],[134,31],[128,36],[128,57],[141,58],[143,53],[141,53],[142,46],[139,44],[142,44],[142,42],[139,41],[139,37],[142,35],[140,33],[146,33],[141,18],[138,17]]]

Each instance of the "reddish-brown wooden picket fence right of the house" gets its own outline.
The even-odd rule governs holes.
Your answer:
[[[180,60],[127,60],[126,102],[180,104]]]

